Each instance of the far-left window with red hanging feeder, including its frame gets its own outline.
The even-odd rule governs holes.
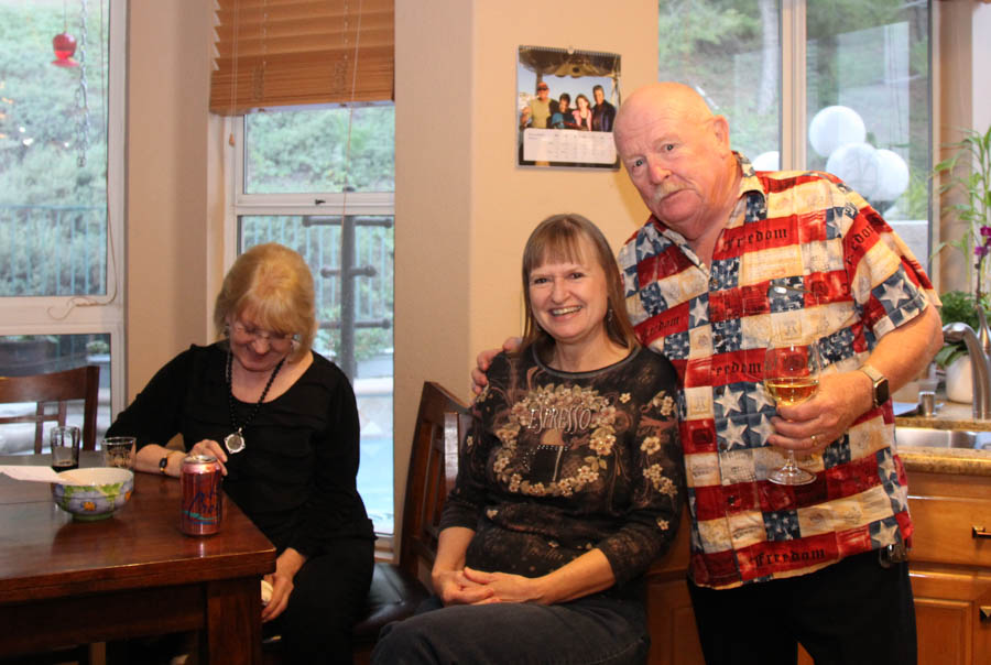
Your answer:
[[[98,435],[124,397],[126,9],[0,0],[0,374],[100,366]],[[32,441],[0,430],[0,453]]]

